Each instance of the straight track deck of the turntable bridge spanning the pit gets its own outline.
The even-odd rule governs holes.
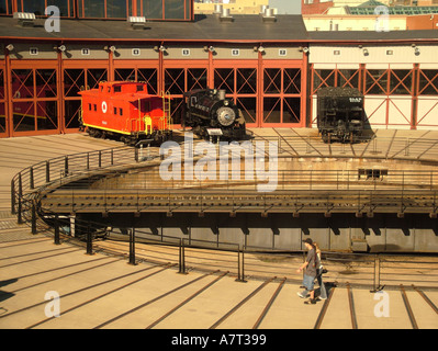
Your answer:
[[[428,213],[438,210],[428,190],[291,190],[273,193],[233,190],[56,190],[41,200],[54,213],[256,212],[256,213]]]

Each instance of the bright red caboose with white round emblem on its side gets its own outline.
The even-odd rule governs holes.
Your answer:
[[[162,143],[171,137],[170,98],[150,95],[141,82],[100,82],[82,95],[81,124],[94,137],[114,136],[134,145],[141,139]]]

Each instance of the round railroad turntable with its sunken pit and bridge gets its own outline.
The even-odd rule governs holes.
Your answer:
[[[436,252],[435,162],[406,152],[383,157],[391,152],[375,154],[373,143],[383,145],[384,138],[347,151],[315,135],[256,136],[236,145],[190,136],[182,144],[170,141],[167,149],[137,151],[131,165],[113,161],[76,171],[70,160],[67,177],[40,192],[37,211],[42,217],[66,216],[71,226],[101,223],[99,231],[126,233],[135,223],[158,239],[245,249],[301,250],[303,238],[311,236],[332,251]],[[301,152],[303,144],[313,152]],[[330,148],[330,155],[319,147]],[[83,234],[78,228],[69,230]]]

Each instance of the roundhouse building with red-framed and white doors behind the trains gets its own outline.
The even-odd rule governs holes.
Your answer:
[[[78,92],[102,80],[169,92],[177,125],[183,92],[214,87],[248,127],[310,127],[317,90],[345,86],[366,94],[372,127],[438,127],[436,30],[307,32],[301,15],[194,16],[190,0],[154,11],[146,0],[57,2],[59,31],[54,16],[11,15],[41,14],[45,1],[0,7],[0,137],[77,132]]]

